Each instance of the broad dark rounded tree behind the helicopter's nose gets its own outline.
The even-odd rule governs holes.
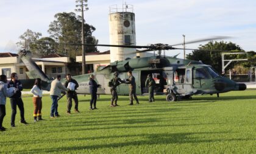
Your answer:
[[[216,71],[218,71],[219,73],[221,73],[222,71],[222,65],[221,65],[222,52],[218,52],[218,51],[244,52],[243,49],[241,49],[241,47],[236,45],[235,43],[232,43],[232,42],[227,43],[224,41],[220,41],[220,42],[215,41],[214,43],[210,41],[205,45],[200,45],[198,49],[200,49],[201,51],[192,51],[192,53],[187,55],[187,59],[196,60],[196,61],[201,60],[204,64],[213,66],[213,68],[215,68]],[[204,49],[215,50],[216,52],[204,51]],[[227,55],[226,58],[238,58],[239,56],[241,57],[241,55]],[[233,66],[235,66],[236,64],[237,64],[236,62],[230,63],[227,69],[233,68]]]

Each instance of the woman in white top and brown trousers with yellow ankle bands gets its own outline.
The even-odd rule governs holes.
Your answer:
[[[30,90],[32,94],[34,94],[33,97],[33,103],[34,103],[34,122],[43,120],[41,115],[42,110],[42,96],[43,96],[43,90],[41,88],[41,79],[37,78],[35,79],[35,84],[33,88]]]

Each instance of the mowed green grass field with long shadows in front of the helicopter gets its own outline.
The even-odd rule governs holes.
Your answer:
[[[23,97],[26,121],[10,128],[10,102],[0,132],[0,153],[256,153],[256,91],[233,91],[192,100],[166,102],[156,96],[138,97],[129,106],[111,108],[101,96],[99,110],[90,111],[90,96],[79,96],[80,113],[66,114],[66,97],[59,102],[61,117],[50,119],[51,100],[43,97],[43,118],[33,122],[32,97]],[[73,111],[73,110],[72,110]]]

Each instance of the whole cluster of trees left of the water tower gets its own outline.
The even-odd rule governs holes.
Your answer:
[[[93,37],[96,28],[89,24],[84,24],[85,44],[98,44],[98,40]],[[40,32],[33,32],[27,29],[21,35],[20,41],[16,44],[22,49],[29,49],[32,53],[43,57],[49,54],[62,54],[71,58],[82,54],[82,47],[68,43],[81,44],[82,38],[82,18],[75,13],[57,13],[54,21],[49,24],[49,37],[41,37]],[[37,42],[44,42],[40,44]],[[66,44],[66,46],[65,46]],[[66,52],[65,52],[66,49]],[[86,52],[98,52],[96,46],[85,47]]]

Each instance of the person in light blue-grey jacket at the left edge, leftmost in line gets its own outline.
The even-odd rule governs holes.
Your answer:
[[[7,77],[6,75],[0,75],[0,131],[5,131],[6,128],[2,126],[2,121],[4,121],[5,116],[5,104],[6,97],[11,97],[15,94],[15,88],[10,91],[7,88]]]

